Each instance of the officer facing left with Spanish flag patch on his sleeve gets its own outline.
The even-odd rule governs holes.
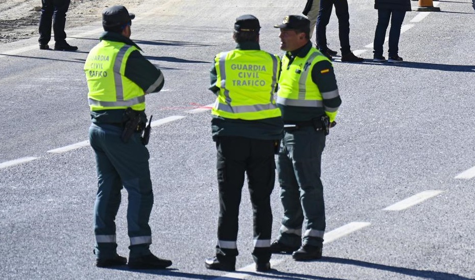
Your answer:
[[[321,156],[341,99],[331,62],[310,42],[310,21],[289,15],[275,27],[286,51],[277,92],[284,121],[277,157],[284,215],[271,250],[293,252],[296,261],[320,259],[325,232]]]

